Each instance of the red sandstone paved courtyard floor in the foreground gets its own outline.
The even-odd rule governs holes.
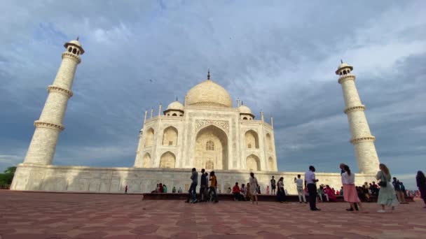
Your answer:
[[[219,198],[220,199],[220,198]],[[0,239],[9,238],[426,238],[426,208],[346,212],[347,203],[141,201],[139,195],[0,190]]]

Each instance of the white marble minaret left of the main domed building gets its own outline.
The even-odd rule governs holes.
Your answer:
[[[77,40],[64,44],[62,63],[52,85],[48,86],[48,99],[39,120],[34,122],[36,130],[29,144],[24,164],[52,164],[59,133],[64,130],[62,121],[67,110],[68,99],[72,96],[72,83],[80,55],[84,50]]]

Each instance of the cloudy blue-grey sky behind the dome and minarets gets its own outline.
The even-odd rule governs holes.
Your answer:
[[[426,169],[424,1],[6,1],[0,14],[0,170],[23,161],[60,65],[85,48],[54,164],[132,166],[144,110],[212,79],[274,117],[280,171],[357,168],[340,60],[354,66],[380,161]],[[152,82],[150,81],[152,80]]]

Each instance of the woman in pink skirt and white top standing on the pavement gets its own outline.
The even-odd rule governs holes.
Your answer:
[[[358,203],[359,210],[365,212],[362,208],[361,200],[358,198],[357,189],[355,188],[355,173],[350,172],[348,165],[343,167],[345,173],[342,173],[343,183],[343,198],[350,204],[351,208],[355,208],[355,203]]]

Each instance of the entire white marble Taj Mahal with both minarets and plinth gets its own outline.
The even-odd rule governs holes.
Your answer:
[[[63,119],[73,96],[74,74],[85,52],[78,39],[65,43],[64,48],[62,63],[48,86],[48,98],[34,122],[34,135],[11,189],[121,193],[127,185],[130,193],[146,193],[161,182],[188,190],[191,168],[195,167],[198,171],[215,171],[220,191],[235,182],[247,182],[249,173],[254,172],[261,187],[265,188],[273,175],[282,176],[287,191],[296,194],[293,178],[303,172],[278,171],[273,118],[266,120],[263,112],[256,117],[240,100],[234,104],[226,89],[210,79],[209,72],[206,80],[189,89],[183,102],[174,101],[165,110],[159,106],[158,113],[145,112],[139,138],[135,137],[133,167],[56,166],[53,159],[65,129]],[[341,62],[335,73],[343,89],[343,112],[348,116],[349,141],[359,168],[357,184],[362,184],[373,180],[379,160],[376,138],[371,135],[352,70]],[[317,173],[317,178],[322,184],[340,188],[340,173]]]

